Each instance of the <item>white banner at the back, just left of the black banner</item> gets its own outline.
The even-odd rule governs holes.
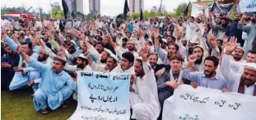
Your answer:
[[[195,3],[191,3],[191,7],[192,7],[192,10],[191,10],[191,16],[194,16],[194,17],[197,17],[198,14],[201,14],[202,15],[202,8],[205,9],[205,13],[206,13],[206,16],[207,16],[207,10],[209,7],[212,7],[214,4],[214,2],[210,2],[208,3],[207,5],[205,6],[200,6],[198,4],[195,4]]]

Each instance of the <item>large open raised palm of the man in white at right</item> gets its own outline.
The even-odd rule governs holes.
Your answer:
[[[230,42],[225,44],[224,53],[230,55],[237,47],[237,39],[235,37],[230,38]]]

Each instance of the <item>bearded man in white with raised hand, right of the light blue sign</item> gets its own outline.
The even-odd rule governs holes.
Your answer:
[[[161,112],[157,95],[154,71],[148,66],[149,48],[142,48],[142,59],[136,59],[134,71],[136,78],[131,78],[130,107],[132,117],[140,120],[156,120]]]

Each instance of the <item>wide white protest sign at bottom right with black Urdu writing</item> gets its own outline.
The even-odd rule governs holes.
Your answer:
[[[165,99],[163,120],[255,120],[256,97],[179,85]]]

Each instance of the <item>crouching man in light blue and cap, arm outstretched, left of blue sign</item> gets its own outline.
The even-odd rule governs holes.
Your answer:
[[[64,101],[72,95],[73,90],[77,90],[77,85],[72,80],[72,77],[63,71],[67,61],[63,58],[55,57],[54,64],[50,67],[41,62],[36,62],[35,59],[30,58],[21,49],[19,49],[19,53],[31,67],[35,67],[42,73],[39,89],[35,91],[34,95],[35,110],[41,110],[41,113],[45,114],[48,113],[47,107],[53,110],[60,105],[63,108],[66,107]]]

